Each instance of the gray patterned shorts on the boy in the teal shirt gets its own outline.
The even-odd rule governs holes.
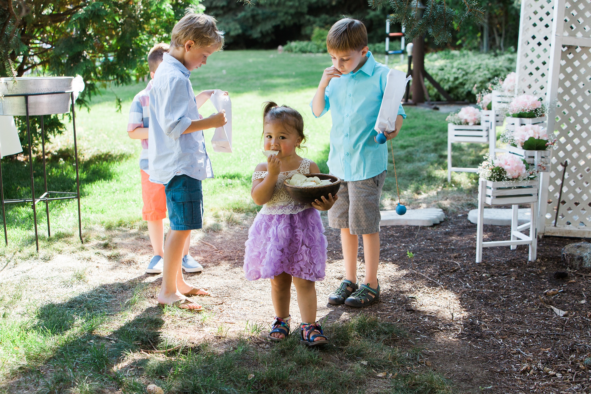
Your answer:
[[[362,181],[343,181],[339,199],[329,209],[329,226],[349,229],[354,235],[379,232],[379,197],[382,194],[386,171]]]

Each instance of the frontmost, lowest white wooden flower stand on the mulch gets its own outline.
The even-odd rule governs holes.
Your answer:
[[[517,249],[517,245],[529,245],[529,261],[535,261],[538,250],[537,220],[538,220],[538,190],[539,181],[506,181],[492,182],[482,178],[478,188],[478,222],[476,226],[476,262],[482,262],[482,248],[491,246],[510,246]],[[531,220],[519,226],[519,204],[531,205]],[[484,209],[495,205],[509,205],[512,207],[511,239],[503,241],[483,241]],[[530,230],[529,235],[522,233]]]

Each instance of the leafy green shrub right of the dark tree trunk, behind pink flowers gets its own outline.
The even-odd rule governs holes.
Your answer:
[[[496,55],[445,50],[426,54],[425,70],[454,100],[476,102],[474,92],[486,89],[495,77],[504,78],[515,71],[516,58],[515,53]],[[427,80],[425,84],[431,100],[444,100]]]

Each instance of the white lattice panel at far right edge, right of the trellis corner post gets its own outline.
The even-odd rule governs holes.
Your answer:
[[[548,130],[558,131],[559,149],[548,174],[548,199],[541,204],[544,234],[591,236],[591,0],[556,0],[554,9]],[[556,119],[556,122],[554,121]],[[568,161],[564,184],[563,167]],[[562,188],[562,198],[558,193]],[[557,203],[560,215],[556,226]]]

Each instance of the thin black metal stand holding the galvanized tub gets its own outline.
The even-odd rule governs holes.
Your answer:
[[[76,165],[76,192],[73,191],[49,191],[47,190],[47,164],[46,164],[46,152],[45,152],[45,129],[43,123],[43,115],[41,116],[41,146],[43,147],[43,183],[45,187],[45,193],[41,194],[41,196],[35,198],[35,185],[34,185],[34,176],[33,176],[33,146],[31,143],[31,123],[29,119],[29,96],[40,96],[51,94],[54,95],[56,93],[70,93],[70,101],[72,102],[72,128],[74,132],[74,162]],[[78,200],[78,235],[80,237],[80,242],[84,243],[82,239],[82,216],[80,215],[80,173],[79,173],[79,165],[78,165],[78,145],[76,141],[76,111],[74,109],[74,93],[73,92],[51,92],[51,93],[38,93],[34,95],[5,95],[5,96],[24,96],[25,97],[25,108],[27,112],[27,137],[29,142],[29,165],[31,169],[31,198],[16,198],[12,200],[5,200],[4,199],[4,188],[2,183],[2,162],[0,160],[0,198],[2,204],[2,223],[4,224],[4,242],[8,246],[8,233],[7,233],[7,226],[6,226],[6,211],[5,211],[5,204],[15,204],[15,203],[31,203],[31,207],[33,207],[33,222],[35,226],[35,245],[37,246],[37,252],[39,251],[39,234],[37,229],[37,203],[39,201],[45,201],[45,208],[47,214],[47,236],[51,236],[51,227],[49,223],[49,201],[55,200],[70,200],[72,198],[76,198]],[[62,195],[62,197],[50,197],[52,194]]]

